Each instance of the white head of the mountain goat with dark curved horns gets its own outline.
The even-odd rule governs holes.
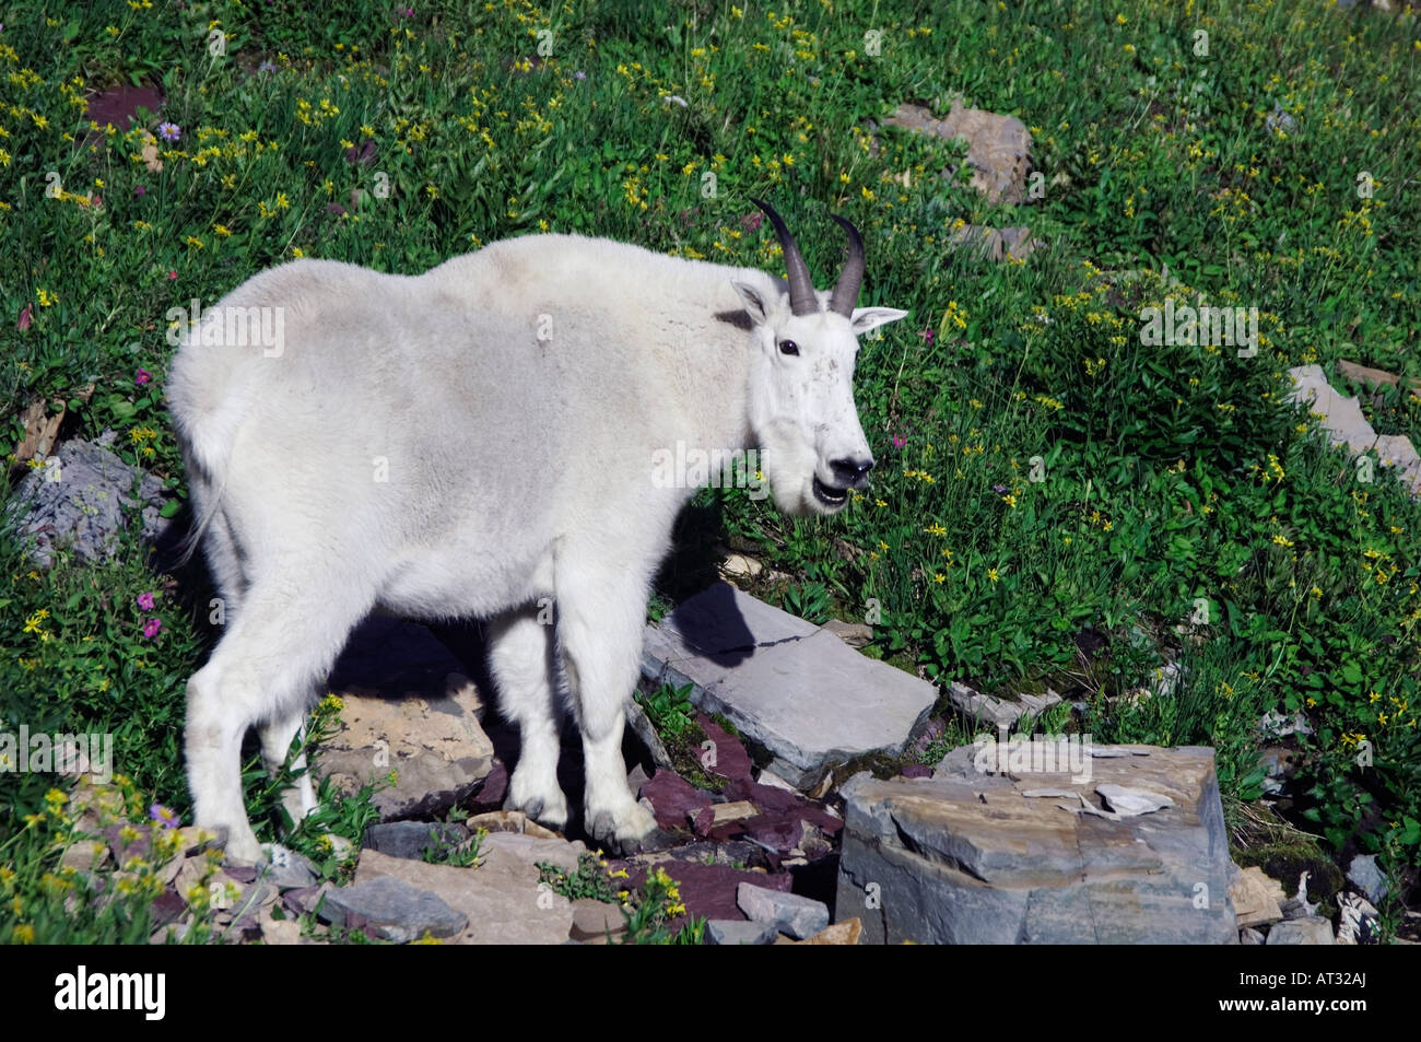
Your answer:
[[[757,286],[735,283],[755,324],[749,411],[760,466],[786,513],[836,513],[850,490],[867,488],[874,466],[854,407],[858,337],[908,313],[854,307],[864,243],[847,220],[831,215],[848,233],[848,262],[833,291],[820,293],[784,220],[759,199],[752,202],[774,226],[789,273],[789,291],[769,297]]]

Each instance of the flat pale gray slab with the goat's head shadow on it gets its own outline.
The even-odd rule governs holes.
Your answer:
[[[647,628],[642,675],[691,684],[699,709],[726,716],[773,755],[770,770],[804,789],[837,763],[901,753],[938,699],[934,684],[729,583]]]

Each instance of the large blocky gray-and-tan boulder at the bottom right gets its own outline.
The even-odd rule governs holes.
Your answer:
[[[1064,770],[980,752],[841,788],[836,914],[861,918],[865,942],[1238,942],[1212,749],[1098,746]],[[1117,817],[1101,785],[1169,805]]]

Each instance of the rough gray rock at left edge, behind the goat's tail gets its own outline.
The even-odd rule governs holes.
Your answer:
[[[50,461],[21,479],[6,506],[6,525],[38,567],[50,567],[55,550],[64,549],[87,563],[107,560],[135,512],[142,513],[144,542],[158,539],[163,526],[158,478],[87,441],[64,442]]]

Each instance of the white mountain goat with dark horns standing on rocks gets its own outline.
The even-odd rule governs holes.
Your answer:
[[[784,222],[756,205],[787,284],[537,235],[418,277],[297,260],[185,334],[168,392],[226,606],[188,682],[188,779],[198,825],[226,826],[229,854],[260,857],[240,783],[247,728],[277,770],[372,610],[492,621],[490,670],[522,739],[510,809],[567,822],[566,695],[584,827],[622,849],[654,829],[627,785],[624,709],[652,577],[695,493],[654,478],[654,459],[678,442],[757,446],[782,510],[837,512],[874,465],[853,398],[857,337],[907,314],[854,307],[864,250],[847,220],[834,217],[848,260],[817,291]],[[252,308],[276,308],[281,343],[232,343],[225,317],[269,314]],[[284,800],[293,819],[311,810],[310,780]]]

